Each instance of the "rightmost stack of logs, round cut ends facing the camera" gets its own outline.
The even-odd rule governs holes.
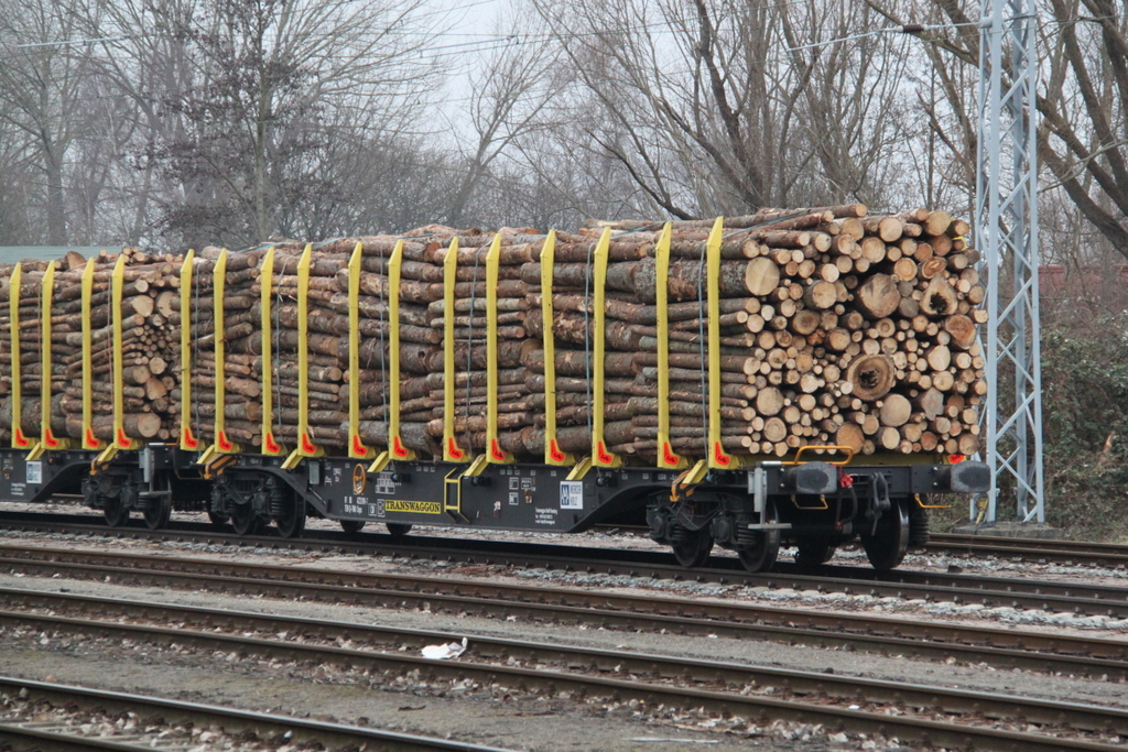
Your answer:
[[[656,227],[609,222],[607,304],[610,451],[658,451]],[[675,223],[669,300],[671,444],[700,457],[707,426],[707,319],[702,263],[710,222]],[[725,221],[721,265],[722,442],[734,453],[783,457],[837,444],[874,452],[978,451],[986,393],[976,326],[985,289],[968,224],[943,211],[869,218],[858,204],[764,212]],[[599,228],[591,228],[592,231]],[[526,276],[534,277],[530,268]],[[557,267],[557,278],[582,272]],[[557,316],[580,322],[582,297]],[[563,327],[567,329],[567,327]],[[566,337],[554,326],[557,338]],[[629,333],[629,334],[626,334]],[[613,337],[613,334],[618,335]],[[574,342],[574,339],[573,339]],[[617,441],[620,440],[622,441]],[[617,445],[616,445],[617,443]]]

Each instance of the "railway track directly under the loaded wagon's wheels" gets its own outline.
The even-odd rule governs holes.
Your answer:
[[[46,517],[46,519],[43,519]],[[53,519],[54,517],[54,519]],[[6,517],[3,527],[33,532],[70,533],[91,538],[134,538],[157,541],[223,543],[239,547],[262,546],[274,549],[341,551],[360,556],[390,556],[406,559],[462,561],[473,565],[541,567],[585,573],[626,574],[659,580],[696,580],[723,584],[743,584],[769,590],[817,591],[869,594],[876,598],[920,599],[984,607],[1007,607],[1041,611],[1128,618],[1128,587],[1087,585],[1029,577],[988,577],[953,573],[895,569],[881,573],[869,567],[823,566],[811,572],[787,563],[777,570],[761,574],[746,572],[735,557],[713,556],[708,564],[686,569],[671,555],[660,551],[608,549],[545,543],[514,543],[474,539],[393,537],[311,531],[300,539],[277,536],[238,537],[217,532],[203,524],[179,523],[170,530],[114,528],[82,522],[60,521],[58,515],[39,515],[18,521]]]

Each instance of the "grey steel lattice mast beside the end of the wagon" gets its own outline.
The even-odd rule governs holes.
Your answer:
[[[1038,308],[1038,11],[982,0],[976,238],[987,277],[987,462],[1020,522],[1043,522],[1041,328]],[[1004,294],[1006,290],[1007,294]]]

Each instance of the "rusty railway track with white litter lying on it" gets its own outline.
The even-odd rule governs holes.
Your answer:
[[[1113,707],[497,638],[475,638],[457,660],[437,662],[415,649],[458,636],[58,593],[6,594],[14,596],[0,611],[0,626],[8,629],[335,665],[371,676],[374,687],[395,687],[397,678],[415,675],[432,689],[473,682],[473,689],[494,696],[517,692],[596,705],[637,700],[651,708],[818,723],[975,749],[1112,750],[1128,736],[1128,710]],[[64,616],[72,612],[82,616]]]

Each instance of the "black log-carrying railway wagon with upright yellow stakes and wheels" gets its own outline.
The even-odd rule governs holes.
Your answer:
[[[744,222],[743,227],[755,224]],[[616,451],[605,424],[605,365],[609,362],[605,316],[623,300],[608,289],[613,255],[608,231],[589,244],[579,309],[584,319],[580,342],[591,400],[580,444],[574,430],[565,441],[567,430],[557,424],[557,381],[562,378],[556,373],[561,359],[554,351],[558,345],[554,327],[561,324],[554,302],[562,300],[554,294],[554,275],[561,272],[554,266],[557,236],[549,233],[527,244],[532,246],[540,275],[535,298],[530,295],[539,310],[526,313],[527,322],[535,318],[538,324],[529,329],[539,329],[543,338],[536,355],[540,373],[531,382],[543,390],[534,395],[539,407],[535,428],[539,455],[531,455],[528,443],[520,444],[499,427],[508,415],[499,386],[504,350],[499,344],[503,326],[499,325],[503,318],[499,290],[505,289],[497,276],[500,233],[470,256],[459,251],[456,237],[437,256],[442,276],[431,285],[439,291],[431,304],[444,306],[446,316],[438,326],[432,321],[428,335],[433,335],[429,346],[440,355],[432,361],[435,372],[426,377],[441,396],[434,407],[440,418],[429,426],[437,434],[433,439],[405,435],[400,422],[406,401],[400,387],[409,382],[402,363],[407,347],[400,335],[408,327],[420,328],[417,322],[403,320],[400,294],[381,295],[376,307],[379,327],[361,326],[362,280],[376,273],[380,276],[379,284],[364,286],[369,295],[374,287],[399,290],[405,242],[412,239],[400,239],[391,244],[390,253],[377,254],[374,265],[367,264],[365,253],[371,249],[358,242],[347,263],[333,275],[338,283],[333,304],[346,311],[346,318],[337,321],[345,330],[340,342],[334,340],[345,365],[336,374],[343,417],[334,430],[342,439],[338,442],[331,441],[334,431],[311,422],[319,399],[311,373],[317,375],[317,369],[324,368],[324,360],[312,352],[324,321],[311,319],[314,309],[329,306],[325,295],[315,300],[315,291],[326,287],[312,280],[327,277],[311,276],[318,264],[312,247],[296,254],[290,259],[293,264],[275,258],[274,249],[221,251],[209,258],[190,251],[176,259],[175,273],[166,274],[175,294],[161,301],[167,310],[158,321],[178,351],[170,359],[174,388],[161,392],[161,407],[177,416],[173,435],[146,431],[147,414],[131,407],[138,404],[135,392],[143,386],[133,386],[131,380],[129,343],[146,311],[139,319],[126,307],[141,277],[127,273],[124,255],[116,263],[104,258],[73,264],[65,273],[54,263],[34,275],[17,267],[0,291],[0,306],[8,315],[0,338],[0,375],[6,384],[0,391],[0,433],[10,443],[0,450],[0,499],[39,502],[56,494],[81,494],[111,525],[138,512],[150,527],[159,528],[175,508],[206,512],[213,522],[230,524],[240,534],[273,523],[285,537],[301,534],[307,515],[340,521],[353,531],[380,522],[399,534],[413,524],[567,533],[634,513],[645,516],[651,537],[671,547],[686,566],[704,564],[714,545],[720,545],[734,550],[755,572],[773,565],[781,545],[794,545],[801,561],[819,564],[853,539],[861,539],[873,566],[896,567],[908,547],[927,539],[923,499],[987,490],[987,467],[951,457],[943,443],[933,444],[934,451],[915,451],[917,444],[902,442],[899,452],[878,448],[861,454],[857,445],[834,441],[773,444],[733,439],[733,431],[741,426],[733,428],[732,414],[724,410],[722,400],[722,384],[731,381],[724,353],[731,353],[732,345],[722,335],[722,322],[728,319],[721,306],[721,276],[728,263],[722,256],[732,258],[732,254],[722,253],[731,244],[725,245],[721,220],[698,244],[704,274],[698,274],[697,290],[689,295],[691,304],[699,307],[702,329],[702,388],[696,405],[700,427],[697,434],[686,430],[681,437],[673,437],[671,406],[682,404],[685,396],[671,398],[670,344],[686,337],[675,340],[670,335],[664,284],[670,276],[670,227],[655,236],[645,251],[656,264],[656,289],[644,324],[653,334],[647,362],[656,369],[656,383],[646,393],[655,397],[656,442],[653,453],[635,457]],[[248,275],[257,281],[256,300],[232,324],[230,284]],[[473,281],[472,298],[477,291],[484,294],[460,307],[456,291],[467,278]],[[460,320],[457,310],[470,316]],[[147,320],[152,322],[151,317]],[[296,329],[284,354],[279,336],[282,320],[290,320]],[[459,350],[467,337],[465,327],[475,325],[485,344],[484,363],[478,363],[483,379],[472,378],[469,366],[462,365],[474,355],[473,348]],[[232,352],[236,335],[246,334],[235,331],[237,327],[255,330],[254,345],[241,353]],[[380,356],[362,363],[362,350],[377,335]],[[778,339],[784,339],[783,334]],[[63,343],[72,346],[65,363],[60,355]],[[257,372],[232,371],[236,362],[248,357],[265,365]],[[210,377],[201,375],[205,363],[211,364]],[[240,375],[232,377],[236,372]],[[474,399],[469,399],[472,381]],[[379,399],[363,398],[373,384]],[[460,393],[464,388],[467,399]],[[69,400],[69,407],[61,409],[63,400]],[[373,402],[378,408],[371,408]],[[280,415],[285,417],[285,427]],[[379,418],[374,423],[373,416]],[[261,423],[254,436],[246,428],[248,418]],[[472,430],[477,433],[467,439]],[[522,434],[526,441],[529,431]],[[742,452],[733,451],[737,448]],[[867,449],[872,451],[872,444]]]

